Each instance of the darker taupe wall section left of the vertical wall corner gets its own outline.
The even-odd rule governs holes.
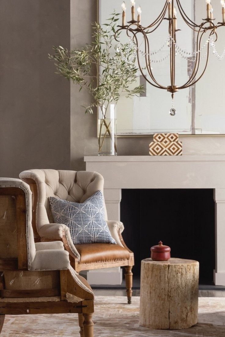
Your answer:
[[[0,0],[0,176],[70,168],[70,85],[52,45],[70,45],[69,0]]]

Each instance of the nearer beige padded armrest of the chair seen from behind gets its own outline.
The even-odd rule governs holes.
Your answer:
[[[69,269],[69,253],[62,249],[36,251],[31,270],[63,270]]]

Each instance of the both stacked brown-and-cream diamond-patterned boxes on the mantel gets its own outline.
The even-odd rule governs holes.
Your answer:
[[[181,156],[182,142],[178,133],[154,133],[153,142],[149,144],[150,156]]]

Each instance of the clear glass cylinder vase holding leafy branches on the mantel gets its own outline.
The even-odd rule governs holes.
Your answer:
[[[116,111],[115,104],[110,103],[105,109],[99,107],[99,156],[117,155],[117,130],[116,130]]]

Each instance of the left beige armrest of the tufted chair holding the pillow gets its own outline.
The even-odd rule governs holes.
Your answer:
[[[48,223],[42,226],[38,232],[41,238],[63,240],[65,249],[69,254],[77,257],[80,261],[81,256],[73,244],[69,227],[62,223]]]

